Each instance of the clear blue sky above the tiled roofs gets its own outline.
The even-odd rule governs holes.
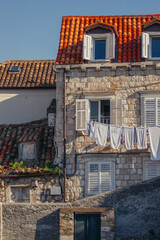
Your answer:
[[[0,0],[0,62],[55,59],[62,16],[158,13],[159,0]]]

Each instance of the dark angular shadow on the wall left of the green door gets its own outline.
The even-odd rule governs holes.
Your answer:
[[[59,210],[37,221],[34,240],[59,240]]]

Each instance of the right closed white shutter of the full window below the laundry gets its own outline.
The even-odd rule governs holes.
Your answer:
[[[100,182],[101,193],[110,191],[112,189],[110,163],[101,164],[100,181],[101,181]]]

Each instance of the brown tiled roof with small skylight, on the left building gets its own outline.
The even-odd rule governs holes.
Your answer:
[[[0,63],[0,88],[53,88],[55,60],[10,60]],[[10,72],[11,66],[20,71]]]

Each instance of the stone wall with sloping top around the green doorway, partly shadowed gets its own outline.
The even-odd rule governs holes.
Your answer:
[[[60,208],[114,208],[115,239],[159,239],[159,199],[160,177],[73,203],[3,204],[3,240],[58,240]]]

